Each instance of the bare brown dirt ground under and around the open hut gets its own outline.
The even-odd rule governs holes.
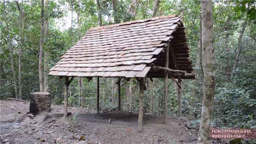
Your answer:
[[[52,105],[52,111],[27,115],[28,102],[0,101],[0,138],[3,144],[195,144],[196,130],[186,128],[186,118],[144,114],[143,132],[138,133],[138,114],[100,112],[87,108]],[[32,118],[33,117],[33,118]]]

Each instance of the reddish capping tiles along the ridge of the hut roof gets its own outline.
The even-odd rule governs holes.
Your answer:
[[[117,27],[117,26],[123,26],[123,25],[135,24],[135,23],[148,22],[150,20],[174,18],[174,17],[178,17],[178,15],[172,14],[172,15],[167,15],[167,16],[157,16],[157,17],[148,18],[148,19],[144,19],[144,20],[134,20],[134,21],[122,22],[122,23],[118,23],[118,24],[111,24],[111,25],[106,25],[106,26],[92,27],[92,28],[89,28],[89,31],[90,30],[101,30],[101,29],[104,29],[104,28],[114,28],[114,27]]]

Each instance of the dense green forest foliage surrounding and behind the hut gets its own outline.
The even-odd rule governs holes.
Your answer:
[[[228,3],[226,3],[228,2]],[[102,23],[104,25],[118,22],[126,22],[132,19],[128,12],[130,0],[116,1],[114,8],[112,0],[100,0],[102,10]],[[73,18],[73,27],[59,28],[56,21],[67,17],[71,10],[80,14],[79,30],[77,17]],[[24,30],[22,31],[22,99],[28,100],[30,92],[39,91],[38,82],[38,55],[40,40],[40,2],[24,1],[23,10]],[[198,0],[182,0],[184,8],[183,24],[186,26],[186,35],[190,47],[196,73],[196,80],[182,80],[182,113],[197,125],[200,122],[203,97],[203,74],[198,56],[198,44],[200,39],[201,7]],[[63,8],[65,7],[65,8]],[[67,8],[68,7],[68,8]],[[80,7],[80,8],[79,8]],[[95,0],[58,0],[49,2],[49,30],[45,40],[44,50],[48,51],[48,67],[51,68],[60,60],[73,42],[78,41],[90,27],[98,26],[98,12]],[[152,17],[154,10],[153,0],[139,0],[138,19]],[[213,109],[212,125],[220,127],[255,128],[256,126],[256,25],[255,0],[214,0],[214,53],[215,53],[215,80],[216,94]],[[157,16],[179,14],[180,3],[178,0],[161,0]],[[1,99],[14,97],[14,78],[11,71],[10,52],[8,49],[7,28],[9,26],[12,40],[12,52],[16,81],[18,81],[18,35],[19,35],[19,11],[15,1],[6,1],[7,20],[3,18],[3,3],[0,3],[0,89]],[[70,20],[71,21],[71,20]],[[240,53],[237,68],[232,72],[236,54],[238,52],[241,23],[247,21],[248,25],[242,37],[243,49]],[[71,36],[72,31],[72,36]],[[78,34],[79,32],[79,34]],[[202,54],[202,56],[204,56]],[[202,62],[203,63],[203,62]],[[233,78],[230,74],[233,73]],[[226,79],[227,78],[227,79]],[[117,108],[118,96],[116,78],[100,78],[100,109],[110,110]],[[121,104],[123,110],[138,112],[138,83],[131,79],[133,84],[132,100],[127,94],[130,82],[121,81]],[[70,84],[68,91],[69,106],[96,107],[96,79],[90,82],[84,78],[84,97],[80,97],[78,79]],[[64,102],[64,80],[54,76],[48,77],[49,92],[52,94],[53,104]],[[154,79],[154,86],[147,85],[144,97],[144,112],[150,112],[150,102],[153,98],[152,114],[162,115],[163,112],[163,79]],[[172,80],[169,80],[168,114],[175,115],[178,111],[177,94]]]

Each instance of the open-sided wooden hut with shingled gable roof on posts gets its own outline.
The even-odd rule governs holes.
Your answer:
[[[138,130],[142,131],[144,78],[165,78],[164,122],[167,114],[168,78],[194,79],[185,27],[176,15],[160,16],[90,28],[49,74],[65,77],[64,115],[67,116],[68,86],[74,77],[136,78],[140,83]],[[70,77],[70,79],[69,79]],[[178,81],[176,80],[178,79]]]

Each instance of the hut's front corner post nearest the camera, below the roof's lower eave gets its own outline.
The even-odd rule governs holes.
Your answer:
[[[139,132],[142,132],[142,124],[143,124],[143,98],[144,98],[144,78],[140,78],[140,104],[139,104],[139,118],[138,118]]]

